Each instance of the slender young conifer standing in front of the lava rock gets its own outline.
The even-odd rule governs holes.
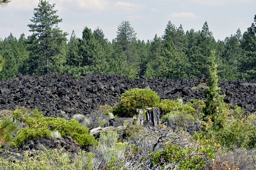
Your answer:
[[[204,94],[207,97],[205,101],[205,107],[203,108],[204,120],[208,121],[209,118],[213,121],[214,127],[218,129],[221,127],[221,120],[218,116],[223,113],[223,99],[224,95],[219,95],[221,88],[218,87],[218,75],[217,75],[217,65],[215,64],[215,52],[212,52],[212,57],[210,58],[210,78],[207,80],[209,82],[209,87],[204,90]]]

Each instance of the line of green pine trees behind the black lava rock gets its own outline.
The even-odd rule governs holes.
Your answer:
[[[0,39],[0,79],[15,77],[17,72],[29,75],[60,74],[80,78],[92,72],[120,74],[128,78],[184,79],[209,75],[212,51],[215,52],[221,81],[256,80],[256,15],[243,34],[216,41],[207,22],[202,30],[184,31],[168,22],[164,35],[139,40],[128,21],[118,27],[116,38],[108,40],[102,29],[87,27],[82,38],[74,31],[58,28],[62,22],[55,4],[41,0],[28,24],[32,35],[11,33]],[[2,64],[3,63],[3,64]]]

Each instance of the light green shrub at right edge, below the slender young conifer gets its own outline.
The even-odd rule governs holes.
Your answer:
[[[244,118],[223,117],[224,124],[220,130],[215,130],[211,121],[204,124],[206,131],[198,134],[200,138],[213,138],[222,146],[233,146],[245,149],[256,147],[256,116],[247,115]]]

